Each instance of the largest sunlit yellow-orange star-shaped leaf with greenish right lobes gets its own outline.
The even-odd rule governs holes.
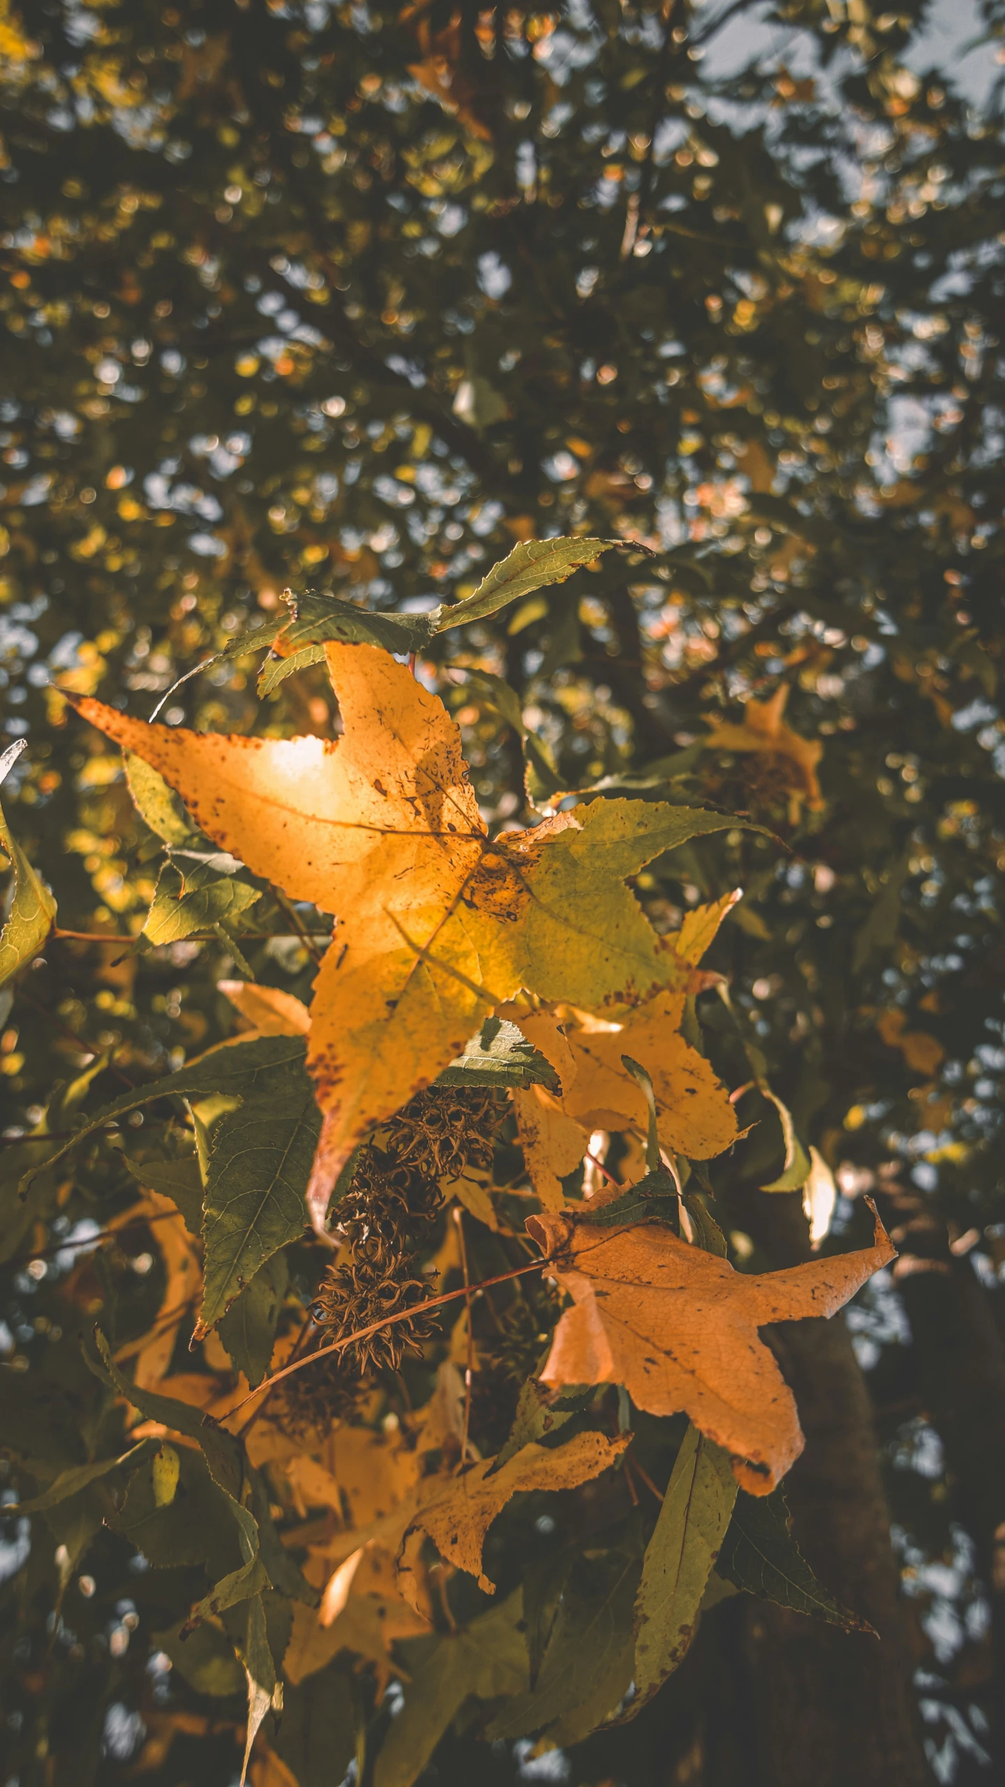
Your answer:
[[[190,733],[79,702],[215,843],[336,917],[308,1047],[325,1113],[308,1188],[318,1229],[354,1145],[520,986],[597,1010],[687,979],[626,877],[730,824],[599,799],[490,840],[438,697],[372,645],[325,654],[345,726],[334,743]]]

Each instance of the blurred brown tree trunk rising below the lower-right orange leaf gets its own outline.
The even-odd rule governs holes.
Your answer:
[[[776,1265],[810,1258],[799,1197],[749,1194],[742,1224]],[[765,1601],[746,1607],[755,1721],[751,1787],[921,1787],[930,1780],[912,1687],[873,1410],[842,1317],[769,1331],[807,1449],[785,1480],[819,1580],[878,1633],[846,1633]],[[710,1778],[708,1787],[717,1787]]]

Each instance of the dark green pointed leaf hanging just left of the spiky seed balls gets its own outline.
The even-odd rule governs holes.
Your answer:
[[[206,1178],[206,1287],[198,1335],[213,1328],[265,1262],[308,1221],[304,1192],[320,1112],[302,1054],[263,1070],[238,1110],[213,1126]]]

